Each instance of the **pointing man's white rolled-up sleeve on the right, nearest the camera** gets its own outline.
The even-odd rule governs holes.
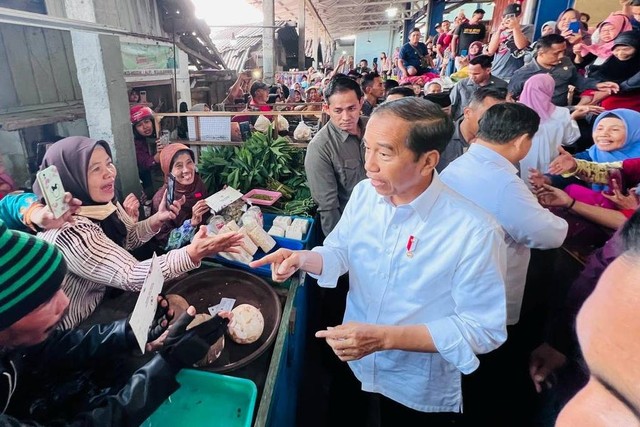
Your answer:
[[[438,352],[463,374],[479,366],[476,354],[507,339],[504,237],[482,230],[467,242],[453,278],[455,315],[426,324]]]

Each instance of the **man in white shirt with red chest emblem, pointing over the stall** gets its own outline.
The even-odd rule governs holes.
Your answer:
[[[506,339],[504,233],[434,170],[452,133],[451,118],[423,99],[380,105],[364,135],[369,179],[324,246],[252,263],[271,263],[276,281],[302,269],[325,287],[349,272],[343,323],[316,337],[357,378],[335,391],[350,420],[367,419],[354,405],[364,401],[379,402],[382,426],[450,422],[462,410],[460,373]]]

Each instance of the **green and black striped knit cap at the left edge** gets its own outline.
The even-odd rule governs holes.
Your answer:
[[[0,220],[0,330],[49,301],[67,272],[51,243],[9,230]]]

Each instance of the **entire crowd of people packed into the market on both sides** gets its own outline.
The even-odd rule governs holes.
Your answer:
[[[482,9],[425,41],[414,29],[371,68],[341,58],[290,87],[241,73],[229,90],[225,102],[267,118],[328,117],[305,154],[319,246],[252,263],[271,264],[275,281],[301,269],[317,282],[328,425],[640,423],[640,1],[595,27],[567,9],[535,41],[521,12],[507,5],[493,32]],[[126,320],[97,324],[105,300],[140,290],[151,252],[169,280],[243,239],[207,233],[209,189],[188,144],[163,141],[147,105],[130,124],[149,212],[117,193],[107,141],[71,136],[45,153],[40,167],[56,166],[68,191],[59,218],[38,184],[13,193],[0,169],[3,425],[138,425],[231,317],[187,332],[190,308],[169,327],[160,297],[157,353],[131,370]],[[561,247],[585,265],[570,283],[548,267]],[[532,334],[538,270],[566,292],[545,301]]]

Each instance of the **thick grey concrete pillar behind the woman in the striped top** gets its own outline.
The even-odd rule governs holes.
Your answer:
[[[96,22],[93,1],[65,0],[64,3],[67,18]],[[71,31],[71,41],[89,136],[109,142],[121,194],[139,195],[142,188],[129,120],[120,39]]]

